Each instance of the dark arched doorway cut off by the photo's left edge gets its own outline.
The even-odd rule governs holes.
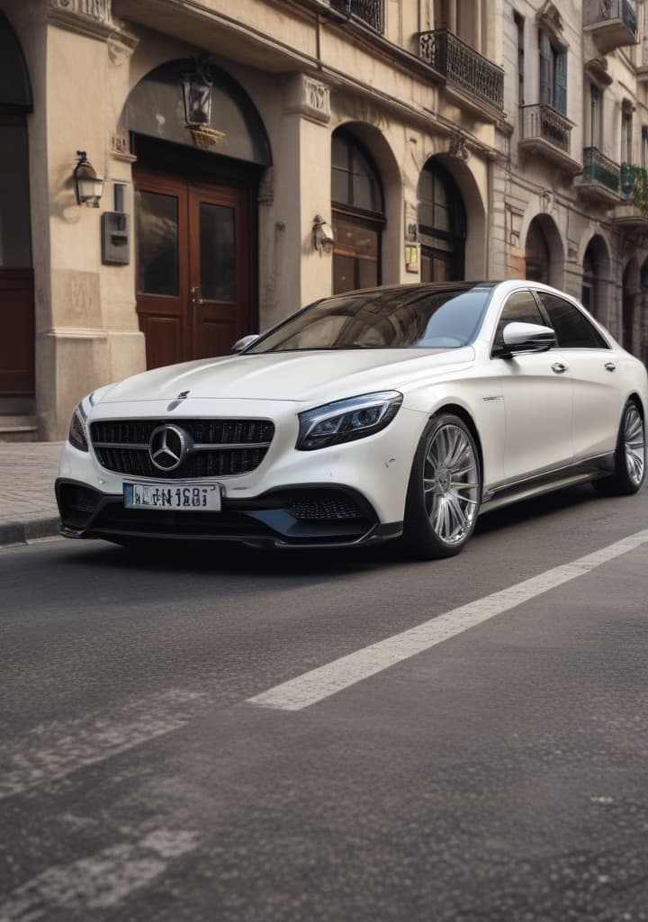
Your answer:
[[[34,278],[27,117],[31,86],[15,31],[0,12],[0,399],[34,394]],[[6,403],[9,401],[9,403]]]

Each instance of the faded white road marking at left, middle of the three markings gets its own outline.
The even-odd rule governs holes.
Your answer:
[[[109,717],[55,720],[0,740],[0,800],[183,727],[205,698],[171,689],[125,704]]]

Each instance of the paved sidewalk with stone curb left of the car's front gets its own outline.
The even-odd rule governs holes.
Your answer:
[[[0,547],[58,534],[60,442],[0,442]]]

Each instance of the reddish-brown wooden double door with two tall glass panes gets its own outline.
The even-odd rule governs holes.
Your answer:
[[[135,171],[136,297],[147,367],[227,355],[256,330],[252,195]]]

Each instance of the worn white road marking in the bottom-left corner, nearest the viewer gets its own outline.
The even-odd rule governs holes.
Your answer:
[[[0,922],[36,922],[57,910],[113,909],[146,887],[173,858],[194,851],[198,833],[157,829],[138,842],[111,845],[67,865],[54,865],[8,894]],[[75,916],[77,917],[77,916]]]

